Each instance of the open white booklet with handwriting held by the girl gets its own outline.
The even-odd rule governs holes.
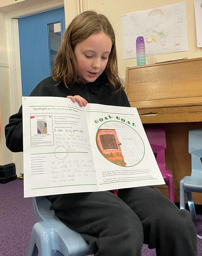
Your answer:
[[[25,197],[165,184],[136,108],[22,102]]]

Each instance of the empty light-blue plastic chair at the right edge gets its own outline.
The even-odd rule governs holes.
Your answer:
[[[202,129],[189,131],[189,154],[192,156],[192,172],[180,180],[180,209],[185,209],[185,194],[193,220],[197,219],[192,192],[202,193]]]

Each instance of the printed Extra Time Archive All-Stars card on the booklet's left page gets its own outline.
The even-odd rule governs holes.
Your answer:
[[[31,146],[54,145],[52,116],[30,116]]]

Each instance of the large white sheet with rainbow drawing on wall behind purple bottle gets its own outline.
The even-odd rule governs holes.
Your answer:
[[[147,56],[187,51],[186,20],[186,2],[123,14],[123,59],[136,58],[136,38],[139,36],[144,37]]]

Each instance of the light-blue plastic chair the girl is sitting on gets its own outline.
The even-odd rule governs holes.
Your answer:
[[[92,254],[82,236],[71,230],[49,209],[44,196],[33,197],[36,223],[32,228],[26,256],[84,256]]]

